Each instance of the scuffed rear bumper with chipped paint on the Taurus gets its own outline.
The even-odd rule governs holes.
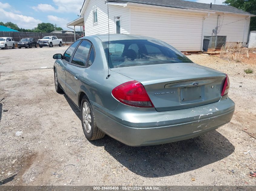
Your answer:
[[[114,111],[94,102],[92,105],[98,127],[130,146],[158,145],[202,135],[228,123],[235,108],[228,97],[200,107],[166,112],[121,103]]]

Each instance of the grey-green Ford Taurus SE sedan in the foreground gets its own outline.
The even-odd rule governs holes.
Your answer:
[[[131,146],[202,135],[228,123],[228,75],[193,63],[169,44],[124,34],[80,38],[55,54],[57,92],[80,110],[88,140]]]

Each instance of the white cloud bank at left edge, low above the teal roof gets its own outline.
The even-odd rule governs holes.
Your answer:
[[[11,11],[5,11],[0,8],[0,18],[2,22],[12,22],[18,25],[20,28],[32,29],[37,26],[38,23],[42,21],[35,19],[33,17],[28,17],[22,14],[15,14]]]

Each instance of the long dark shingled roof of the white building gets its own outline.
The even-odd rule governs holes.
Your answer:
[[[146,5],[172,7],[172,8],[183,8],[183,9],[193,8],[193,9],[203,9],[203,10],[251,15],[251,13],[232,7],[230,5],[211,5],[211,8],[210,8],[210,4],[207,4],[207,3],[198,3],[198,2],[183,1],[183,0],[109,0],[109,2],[122,2],[122,3],[130,2],[130,3],[139,3],[139,4],[146,4]]]

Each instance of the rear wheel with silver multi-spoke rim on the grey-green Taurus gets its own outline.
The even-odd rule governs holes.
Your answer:
[[[105,133],[98,129],[91,103],[86,96],[81,101],[80,109],[82,127],[87,140],[92,141],[103,138]]]

